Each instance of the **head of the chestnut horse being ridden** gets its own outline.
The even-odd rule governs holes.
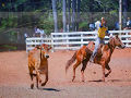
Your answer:
[[[126,46],[123,45],[123,42],[121,41],[121,39],[118,37],[118,35],[116,35],[115,37],[110,38],[109,44],[112,47],[118,46],[119,48],[124,48]]]

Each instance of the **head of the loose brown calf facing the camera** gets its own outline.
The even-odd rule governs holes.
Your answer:
[[[51,46],[43,44],[40,46],[40,54],[41,54],[40,57],[48,59],[49,58],[48,52],[49,52],[50,49],[51,49]]]

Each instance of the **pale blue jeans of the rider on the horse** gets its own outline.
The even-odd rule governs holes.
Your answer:
[[[96,42],[95,42],[95,49],[93,51],[93,54],[91,56],[91,60],[94,60],[95,56],[97,54],[98,48],[100,44],[105,44],[104,39],[97,37]]]

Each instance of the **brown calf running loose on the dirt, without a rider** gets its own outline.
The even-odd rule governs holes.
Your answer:
[[[33,50],[28,52],[28,71],[32,79],[31,88],[34,88],[34,76],[36,76],[36,87],[38,88],[38,83],[41,83],[40,74],[46,75],[46,79],[41,83],[45,86],[48,82],[48,51],[51,49],[49,45],[43,44],[41,46],[36,46]]]

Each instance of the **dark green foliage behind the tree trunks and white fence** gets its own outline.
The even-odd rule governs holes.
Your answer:
[[[69,0],[67,0],[69,1]],[[72,0],[71,0],[72,1]],[[68,5],[68,4],[67,4]],[[131,11],[131,1],[127,0],[127,11]],[[67,7],[68,8],[68,7]],[[102,16],[107,19],[109,29],[118,22],[119,0],[81,0],[79,28],[88,29],[90,23],[95,23]],[[58,28],[62,28],[62,0],[57,0]],[[71,16],[72,16],[72,9]],[[0,36],[9,41],[17,41],[17,28],[43,28],[46,34],[53,32],[53,17],[51,0],[1,0],[0,1]],[[127,15],[130,15],[128,13]],[[67,14],[68,16],[68,14]],[[72,20],[72,19],[71,19]],[[72,24],[70,24],[72,26]],[[19,30],[23,32],[23,30]],[[7,36],[7,37],[5,37]],[[23,35],[22,35],[23,36]],[[2,37],[0,37],[2,39]]]

